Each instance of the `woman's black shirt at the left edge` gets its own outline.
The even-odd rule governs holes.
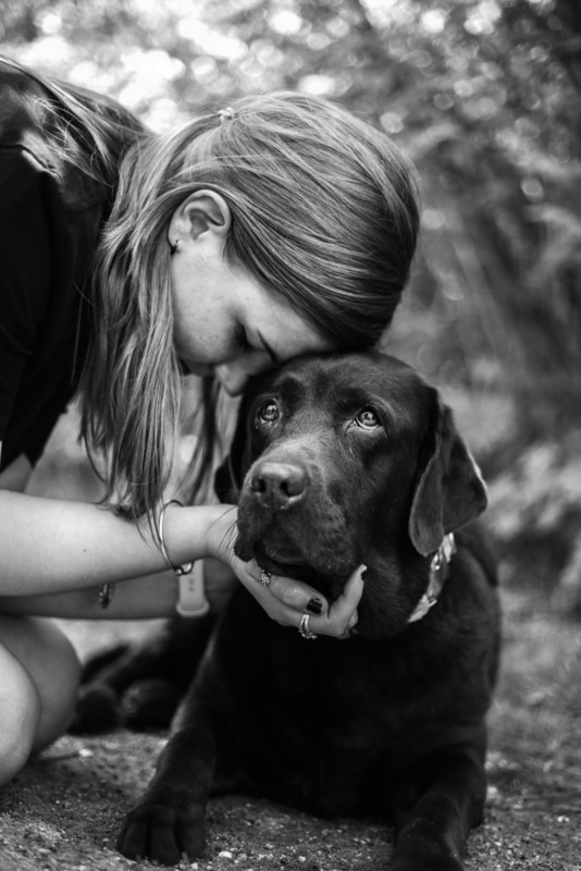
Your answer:
[[[60,154],[48,95],[0,61],[1,467],[34,464],[78,380],[84,297],[113,192]]]

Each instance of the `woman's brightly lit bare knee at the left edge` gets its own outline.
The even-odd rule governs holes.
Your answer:
[[[26,764],[39,722],[40,698],[30,675],[0,645],[0,786]]]

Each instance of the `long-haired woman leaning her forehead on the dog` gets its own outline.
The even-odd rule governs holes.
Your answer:
[[[236,576],[280,623],[308,613],[311,631],[336,637],[355,624],[361,572],[329,605],[236,559],[234,506],[171,499],[181,376],[203,382],[194,502],[215,451],[214,387],[235,395],[297,354],[373,346],[408,277],[418,210],[393,145],[326,101],[249,97],[154,135],[11,61],[0,193],[4,783],[66,727],[78,683],[64,636],[29,615],[196,612],[201,563],[178,576],[205,560],[214,608]],[[77,387],[110,511],[22,492]]]

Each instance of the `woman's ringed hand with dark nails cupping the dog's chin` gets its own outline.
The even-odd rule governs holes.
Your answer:
[[[314,635],[330,635],[335,638],[349,636],[357,623],[357,605],[363,591],[364,566],[354,572],[338,599],[329,604],[326,599],[308,584],[277,575],[264,578],[254,560],[244,563],[236,556],[235,540],[236,508],[232,506],[226,508],[213,524],[210,530],[210,550],[212,556],[230,565],[269,617],[283,626],[298,628],[304,615],[308,614],[308,630]],[[211,601],[211,589],[207,590],[207,594]]]

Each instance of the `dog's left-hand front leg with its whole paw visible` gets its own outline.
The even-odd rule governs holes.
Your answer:
[[[123,856],[177,864],[200,855],[214,761],[210,720],[198,706],[177,725],[141,801],[125,818],[118,839]]]

